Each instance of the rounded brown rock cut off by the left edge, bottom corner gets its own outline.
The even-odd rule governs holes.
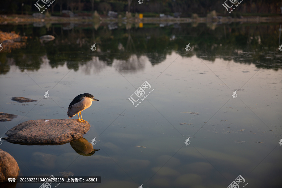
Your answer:
[[[8,181],[8,177],[17,178],[19,173],[17,161],[6,151],[0,149],[0,182]]]

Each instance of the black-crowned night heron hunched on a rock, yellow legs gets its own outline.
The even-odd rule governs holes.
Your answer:
[[[86,108],[90,107],[92,104],[92,101],[99,101],[99,100],[95,99],[94,96],[89,93],[83,93],[83,94],[76,96],[76,98],[74,98],[69,105],[69,109],[68,109],[69,118],[72,118],[73,116],[77,114],[78,115],[77,121],[79,121],[80,123],[87,122],[82,119],[81,112],[85,110]],[[79,118],[79,113],[80,113],[81,119]]]

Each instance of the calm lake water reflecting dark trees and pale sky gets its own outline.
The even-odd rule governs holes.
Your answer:
[[[239,175],[240,188],[282,186],[279,24],[35,26],[0,25],[28,36],[26,47],[0,52],[0,111],[18,115],[1,122],[0,137],[24,121],[68,118],[72,99],[91,93],[99,101],[82,112],[91,124],[83,138],[100,150],[3,141],[19,176],[101,176],[60,188],[218,188]],[[41,42],[45,34],[55,39]],[[144,97],[128,98],[145,81],[145,95],[154,90],[135,107]]]

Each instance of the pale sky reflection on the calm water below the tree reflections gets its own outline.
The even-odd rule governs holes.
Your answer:
[[[88,92],[99,102],[83,112],[91,124],[84,138],[91,142],[96,137],[94,148],[100,150],[82,156],[68,143],[26,146],[3,142],[0,148],[17,160],[21,176],[56,177],[62,171],[102,176],[100,185],[60,187],[227,187],[238,175],[250,187],[269,182],[278,187],[281,67],[258,68],[218,57],[209,61],[193,50],[186,53],[190,55],[173,51],[154,65],[149,55],[114,59],[109,65],[95,53],[87,53],[91,60],[78,64],[76,70],[67,63],[52,68],[47,57],[33,71],[10,65],[0,77],[4,88],[0,91],[1,112],[18,118],[1,123],[0,137],[27,120],[68,118],[71,100]],[[132,65],[126,63],[132,61]],[[135,107],[128,98],[144,81],[154,91]],[[50,97],[44,99],[47,90]],[[233,99],[235,90],[238,96]],[[38,102],[10,100],[16,96]],[[185,146],[188,137],[191,144]]]

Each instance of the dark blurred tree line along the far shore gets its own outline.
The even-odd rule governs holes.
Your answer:
[[[0,13],[30,14],[39,12],[34,5],[37,2],[43,6],[45,2],[51,0],[1,0]],[[226,2],[238,2],[239,0],[55,0],[48,8],[51,13],[62,13],[62,10],[70,10],[74,13],[93,13],[97,11],[100,15],[106,15],[108,11],[124,13],[154,13],[172,14],[181,13],[180,17],[191,17],[196,13],[199,16],[206,16],[207,13],[215,10],[221,15],[229,15],[229,11],[224,8]],[[47,4],[46,4],[47,5]],[[235,4],[234,4],[235,6]],[[233,7],[234,7],[233,6]],[[236,12],[251,14],[280,14],[281,0],[245,0],[236,7]],[[44,8],[42,8],[44,9]],[[231,9],[231,8],[229,8]]]

